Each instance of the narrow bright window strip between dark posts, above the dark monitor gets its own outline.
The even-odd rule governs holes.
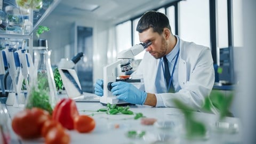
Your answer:
[[[217,1],[217,47],[228,47],[228,5]]]

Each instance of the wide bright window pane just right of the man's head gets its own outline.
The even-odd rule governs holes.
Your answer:
[[[181,1],[179,6],[180,38],[210,47],[209,1]]]

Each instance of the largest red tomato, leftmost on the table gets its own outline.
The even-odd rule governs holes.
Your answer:
[[[12,129],[23,139],[38,138],[44,122],[48,119],[50,114],[43,109],[25,109],[13,117]]]

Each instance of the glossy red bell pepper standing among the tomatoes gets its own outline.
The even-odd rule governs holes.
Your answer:
[[[68,130],[74,129],[74,119],[79,113],[76,108],[76,103],[72,99],[62,99],[55,106],[52,119],[61,123]]]

